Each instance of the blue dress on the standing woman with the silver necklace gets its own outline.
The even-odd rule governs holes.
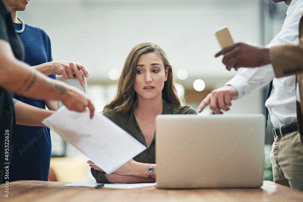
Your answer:
[[[14,23],[14,25],[16,30],[21,30],[21,24]],[[52,61],[51,42],[45,31],[25,24],[25,30],[19,34],[19,37],[24,46],[24,62],[28,65],[35,66]],[[22,47],[16,51],[18,54],[18,51],[22,51]],[[55,74],[49,77],[55,78]],[[23,96],[14,95],[14,98],[26,104],[45,109],[43,100],[27,98],[30,97],[35,87],[33,85]],[[52,151],[49,128],[16,125],[14,139],[9,181],[48,181],[49,162]]]

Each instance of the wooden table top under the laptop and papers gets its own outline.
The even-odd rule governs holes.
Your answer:
[[[9,198],[5,197],[5,184],[1,184],[0,201],[14,202],[185,202],[185,201],[303,201],[303,192],[263,181],[260,189],[196,189],[163,190],[155,186],[135,189],[104,189],[63,187],[68,182],[22,180],[9,183]]]

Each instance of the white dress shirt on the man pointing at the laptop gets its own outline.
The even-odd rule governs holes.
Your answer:
[[[302,14],[303,0],[292,0],[287,9],[287,16],[281,31],[266,48],[281,44],[297,43],[299,22]],[[276,57],[278,57],[278,54]],[[241,98],[251,91],[268,84],[273,79],[272,91],[265,102],[265,106],[268,108],[273,126],[280,127],[297,122],[295,78],[295,75],[275,78],[272,65],[265,64],[259,68],[245,68],[225,85],[234,86],[239,93],[238,98]]]

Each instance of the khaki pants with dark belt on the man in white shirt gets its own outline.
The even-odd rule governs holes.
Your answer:
[[[269,158],[275,183],[303,191],[303,143],[298,131],[275,138]]]

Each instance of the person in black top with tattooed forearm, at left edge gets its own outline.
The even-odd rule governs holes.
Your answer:
[[[8,184],[11,181],[10,162],[15,124],[43,126],[41,121],[53,113],[13,101],[13,93],[23,95],[28,89],[35,88],[35,91],[32,91],[33,97],[62,101],[72,111],[82,112],[89,109],[90,118],[94,116],[94,106],[79,89],[48,78],[21,61],[24,58],[24,49],[18,53],[17,50],[23,47],[22,41],[15,33],[12,16],[2,0],[0,11],[0,183]],[[39,84],[39,88],[35,84]],[[70,105],[69,102],[75,96],[79,98]],[[19,165],[22,168],[25,166]]]

